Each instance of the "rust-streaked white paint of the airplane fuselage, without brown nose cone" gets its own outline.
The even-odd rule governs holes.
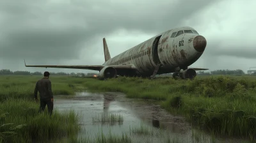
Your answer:
[[[192,30],[194,33],[184,33],[176,37],[171,37],[172,33],[182,30]],[[153,43],[158,36],[161,36],[157,51],[159,61],[163,66],[161,66],[158,73],[171,73],[174,72],[174,69],[178,66],[190,66],[202,56],[204,51],[198,52],[193,47],[193,39],[198,35],[199,34],[195,32],[195,29],[192,27],[170,29],[118,54],[106,61],[103,65],[132,65],[134,68],[138,69],[139,74],[152,75],[157,66],[157,63],[153,61]]]

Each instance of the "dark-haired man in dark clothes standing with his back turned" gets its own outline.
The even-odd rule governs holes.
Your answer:
[[[44,78],[36,82],[36,87],[34,91],[34,96],[36,102],[38,102],[37,92],[40,94],[40,109],[39,113],[43,112],[45,106],[47,105],[48,112],[50,116],[52,115],[53,110],[53,96],[52,96],[52,85],[49,80],[50,73],[44,72]]]

